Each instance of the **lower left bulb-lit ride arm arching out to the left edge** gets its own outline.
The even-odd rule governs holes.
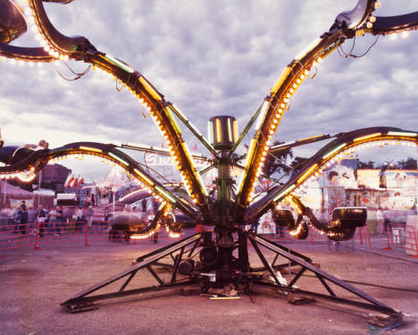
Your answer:
[[[0,150],[5,150],[3,147]],[[29,172],[32,178],[48,162],[63,159],[70,155],[93,155],[101,158],[106,163],[118,164],[124,171],[128,172],[128,176],[132,180],[138,180],[140,185],[155,195],[160,202],[165,202],[170,207],[179,208],[184,214],[198,219],[197,208],[195,205],[189,204],[184,199],[173,194],[163,184],[150,176],[142,166],[135,160],[125,155],[113,145],[104,145],[96,142],[78,142],[71,143],[63,147],[54,149],[45,149],[33,151],[21,161],[12,165],[0,167],[0,178],[13,178],[20,175],[21,172]]]

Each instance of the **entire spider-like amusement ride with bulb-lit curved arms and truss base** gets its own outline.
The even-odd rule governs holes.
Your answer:
[[[322,222],[304,203],[300,191],[342,157],[356,150],[387,145],[416,147],[418,132],[374,127],[342,132],[332,137],[305,138],[273,147],[272,137],[289,108],[291,97],[329,54],[347,40],[364,34],[386,36],[415,30],[418,27],[418,12],[390,17],[374,16],[380,3],[376,0],[359,0],[353,10],[339,13],[330,29],[286,66],[241,133],[238,132],[238,123],[233,116],[220,115],[210,119],[208,138],[205,138],[188,117],[176,105],[167,101],[142,73],[120,59],[97,50],[87,38],[70,38],[55,29],[43,2],[69,4],[72,0],[28,0],[25,8],[13,0],[0,0],[0,56],[10,58],[13,62],[29,63],[75,60],[91,64],[96,70],[104,71],[114,80],[123,83],[140,105],[147,108],[161,131],[172,160],[180,172],[181,191],[166,187],[143,164],[122,152],[118,146],[96,142],[78,142],[38,150],[7,147],[2,143],[0,161],[4,166],[0,167],[0,178],[18,177],[21,180],[31,180],[47,163],[53,163],[64,156],[96,156],[107,163],[119,165],[131,180],[148,190],[160,203],[153,222],[144,230],[138,231],[133,238],[146,238],[160,226],[165,226],[173,235],[177,234],[180,227],[168,219],[168,214],[173,210],[212,228],[139,256],[136,263],[125,272],[63,302],[62,306],[66,310],[71,313],[86,311],[96,308],[95,303],[98,300],[162,289],[198,286],[203,293],[207,293],[225,287],[245,292],[250,292],[255,287],[264,287],[281,294],[319,297],[378,312],[380,315],[370,322],[383,329],[396,327],[402,322],[401,312],[323,271],[311,258],[258,236],[248,227],[269,211],[275,211],[276,224],[286,227],[295,239],[306,239],[311,228],[326,234],[331,240],[342,241],[351,239],[355,229],[364,226],[367,218],[365,207],[335,208],[330,222]],[[28,29],[29,24],[37,28],[35,30],[41,46],[10,45]],[[212,157],[210,168],[217,172],[213,180],[213,192],[208,191],[202,179],[207,169],[196,169],[194,157],[183,139],[178,121],[191,131]],[[247,147],[247,154],[237,155],[236,149],[242,145],[248,131],[253,128],[255,134]],[[274,184],[261,197],[255,197],[255,186],[259,180],[263,180],[263,166],[268,155],[324,139],[330,141],[297,166],[288,180]],[[136,149],[158,153],[153,147]],[[239,180],[232,178],[233,169],[241,171]],[[278,209],[280,204],[293,208],[293,212],[297,213],[296,219],[289,210]],[[251,264],[249,246],[254,247],[261,266]],[[170,269],[168,279],[155,271],[155,267],[162,264]],[[294,269],[294,275],[288,283],[283,283],[280,281],[280,270],[287,267]],[[152,275],[155,285],[138,287],[142,271]],[[306,271],[314,274],[325,292],[296,286]],[[116,282],[121,282],[121,287],[109,292],[109,286]],[[339,292],[349,292],[355,298],[339,296],[334,287]],[[103,290],[100,291],[101,289]]]

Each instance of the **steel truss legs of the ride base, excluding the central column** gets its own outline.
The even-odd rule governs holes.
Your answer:
[[[271,240],[257,236],[252,231],[238,230],[237,236],[238,239],[236,243],[234,243],[234,248],[238,248],[238,265],[236,269],[224,268],[221,270],[217,265],[213,265],[212,269],[211,266],[205,266],[204,268],[196,267],[194,271],[186,276],[188,278],[179,278],[180,262],[195,257],[196,254],[193,254],[198,252],[198,248],[205,247],[208,243],[212,243],[212,233],[204,231],[138,257],[136,260],[137,264],[130,267],[130,269],[105,281],[99,282],[89,289],[79,292],[76,296],[63,302],[61,306],[71,313],[79,313],[96,309],[96,301],[109,298],[127,297],[163,289],[196,287],[197,285],[204,291],[212,285],[222,286],[225,283],[233,283],[237,289],[244,288],[247,293],[255,287],[270,288],[280,293],[291,293],[297,296],[302,295],[303,297],[301,297],[301,299],[304,299],[305,296],[318,297],[333,303],[371,310],[378,314],[370,321],[370,324],[379,327],[380,329],[395,328],[402,323],[401,312],[386,306],[378,299],[371,297],[361,289],[355,288],[355,286],[346,281],[323,271],[319,268],[318,264],[314,264],[312,259],[306,255],[299,254],[288,247],[284,247]],[[254,247],[256,255],[263,264],[262,267],[255,268],[250,266],[247,250],[249,243]],[[216,244],[216,247],[218,247],[218,249],[222,248],[220,244]],[[273,253],[274,257],[272,261],[269,262],[266,255],[263,253],[262,247]],[[167,256],[171,258],[172,264],[161,262]],[[280,257],[285,259],[285,262],[282,264],[278,264],[278,259]],[[169,282],[163,281],[163,278],[161,278],[153,268],[158,265],[170,268],[171,279]],[[299,267],[299,269],[296,274],[294,274],[295,272],[292,272],[293,278],[291,281],[289,281],[287,285],[283,285],[280,283],[280,275],[278,275],[277,271],[288,266],[291,266],[292,268]],[[152,274],[158,285],[128,289],[128,285],[131,283],[132,279],[134,279],[134,277],[138,275],[138,272],[143,269],[146,269]],[[306,271],[314,273],[314,276],[321,282],[322,287],[327,291],[327,294],[300,289],[296,286],[297,282]],[[269,279],[265,279],[265,275],[263,275],[265,273],[270,275]],[[91,295],[116,281],[123,281],[121,288],[117,291]],[[339,297],[330,284],[353,294],[355,297],[359,298],[359,300]]]

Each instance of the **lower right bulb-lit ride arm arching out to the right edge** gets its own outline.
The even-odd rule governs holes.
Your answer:
[[[297,197],[298,188],[304,188],[345,155],[351,155],[366,146],[418,145],[418,132],[390,127],[365,128],[339,133],[335,137],[336,139],[307,159],[284,185],[273,188],[268,195],[250,205],[246,222],[253,222],[283,200],[291,205],[291,197]]]

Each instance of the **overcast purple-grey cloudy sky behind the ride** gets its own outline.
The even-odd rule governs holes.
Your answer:
[[[381,0],[377,16],[418,11],[418,1]],[[143,73],[206,133],[214,115],[242,130],[283,68],[356,0],[75,0],[46,4],[55,27]],[[357,38],[364,54],[375,38]],[[28,32],[14,45],[37,46]],[[349,51],[352,40],[343,48]],[[331,54],[293,96],[277,132],[282,141],[372,126],[418,130],[418,32],[380,37],[361,58]],[[86,64],[70,62],[73,71]],[[0,62],[0,128],[5,145],[74,141],[161,146],[138,101],[99,71],[76,81],[63,64]],[[252,136],[252,134],[250,134]],[[189,137],[189,147],[196,141]],[[247,138],[248,141],[249,138]],[[313,153],[312,153],[313,154]],[[309,155],[302,151],[300,155]]]

